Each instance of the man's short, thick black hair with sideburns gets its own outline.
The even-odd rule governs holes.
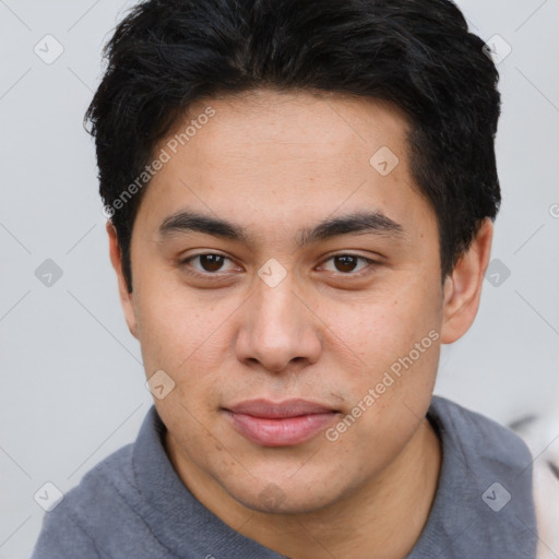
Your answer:
[[[412,175],[437,215],[444,277],[500,205],[499,75],[486,52],[449,0],[140,2],[105,47],[85,115],[129,290],[145,189],[122,193],[192,103],[261,87],[378,98],[407,115]]]

